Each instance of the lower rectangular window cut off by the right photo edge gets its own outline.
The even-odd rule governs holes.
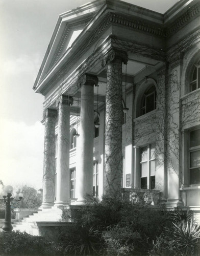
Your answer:
[[[200,129],[189,133],[189,184],[200,184]]]

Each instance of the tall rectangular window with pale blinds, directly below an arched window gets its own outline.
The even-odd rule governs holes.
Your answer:
[[[155,188],[155,143],[141,148],[140,151],[140,182],[143,189]]]

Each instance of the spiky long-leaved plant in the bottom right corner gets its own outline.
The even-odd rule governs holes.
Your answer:
[[[200,227],[193,220],[191,211],[170,212],[171,225],[154,245],[149,255],[197,256],[200,254]],[[166,252],[168,254],[166,254]]]

